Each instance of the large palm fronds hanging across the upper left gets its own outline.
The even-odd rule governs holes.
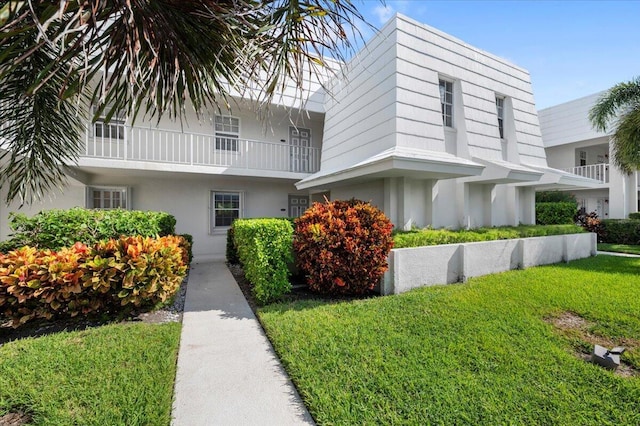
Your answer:
[[[364,22],[350,0],[10,0],[0,8],[0,185],[31,200],[76,160],[88,94],[94,119],[181,119],[257,87],[267,106],[352,47]],[[82,104],[82,102],[80,102]],[[88,107],[85,105],[85,108]],[[0,158],[1,160],[2,158]],[[39,168],[38,168],[39,166]]]

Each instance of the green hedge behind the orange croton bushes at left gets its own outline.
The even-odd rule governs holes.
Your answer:
[[[176,219],[164,212],[137,210],[43,210],[33,217],[11,213],[11,239],[0,244],[0,252],[25,245],[58,250],[76,242],[95,244],[122,235],[143,237],[175,234]]]

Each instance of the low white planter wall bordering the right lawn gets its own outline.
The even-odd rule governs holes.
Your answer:
[[[382,294],[595,256],[596,234],[568,234],[393,249]]]

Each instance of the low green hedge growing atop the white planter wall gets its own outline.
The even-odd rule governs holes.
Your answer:
[[[549,235],[579,234],[584,230],[576,225],[522,225],[496,228],[477,228],[452,231],[449,229],[420,229],[394,233],[394,248],[434,246],[439,244],[472,243],[477,241],[508,240],[512,238],[546,237]]]

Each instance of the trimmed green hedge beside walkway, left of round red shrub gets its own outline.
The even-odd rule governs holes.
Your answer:
[[[238,219],[233,238],[245,276],[260,304],[291,291],[293,227],[287,219]]]

